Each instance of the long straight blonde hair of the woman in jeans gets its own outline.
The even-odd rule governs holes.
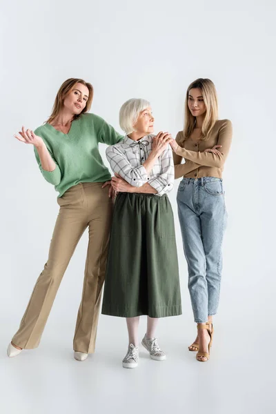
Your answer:
[[[199,88],[206,105],[206,114],[201,128],[201,139],[206,141],[208,139],[213,126],[217,121],[218,117],[218,106],[217,106],[217,91],[215,85],[210,79],[196,79],[188,86],[185,100],[185,117],[184,117],[184,140],[188,139],[192,134],[195,124],[196,117],[194,117],[188,107],[188,95],[191,89]]]

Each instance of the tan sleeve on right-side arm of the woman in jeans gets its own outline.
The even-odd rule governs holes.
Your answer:
[[[224,162],[230,150],[231,141],[232,124],[230,121],[226,120],[219,128],[219,137],[217,140],[217,145],[222,146],[221,148],[217,148],[221,155],[213,154],[213,152],[189,151],[180,146],[178,146],[176,154],[189,159],[190,161],[194,161],[200,166],[221,168],[224,166]]]

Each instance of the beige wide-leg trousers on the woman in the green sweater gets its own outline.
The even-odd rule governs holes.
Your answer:
[[[34,286],[13,344],[25,349],[39,346],[63,274],[88,227],[88,253],[73,347],[83,353],[95,351],[113,206],[108,197],[109,186],[101,186],[102,183],[77,184],[57,199],[60,210],[48,262]]]

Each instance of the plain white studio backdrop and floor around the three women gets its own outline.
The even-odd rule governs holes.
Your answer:
[[[275,12],[273,0],[1,2],[1,413],[228,414],[275,412]],[[92,112],[119,130],[126,99],[152,103],[156,132],[183,128],[188,84],[209,77],[219,117],[233,122],[224,186],[229,221],[215,342],[199,364],[187,346],[195,324],[175,189],[183,315],[161,319],[166,362],[141,351],[124,370],[124,319],[100,317],[97,351],[72,357],[87,235],[61,284],[41,345],[8,359],[34,283],[47,260],[57,193],[30,146],[13,138],[50,115],[61,83],[95,87]],[[105,146],[101,146],[104,155]],[[140,336],[145,318],[141,318]],[[273,326],[274,325],[274,326]]]

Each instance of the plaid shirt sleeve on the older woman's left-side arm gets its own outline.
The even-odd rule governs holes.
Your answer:
[[[149,181],[148,173],[144,166],[133,167],[126,155],[122,154],[115,146],[106,148],[106,158],[113,172],[117,172],[131,186],[141,187]]]

